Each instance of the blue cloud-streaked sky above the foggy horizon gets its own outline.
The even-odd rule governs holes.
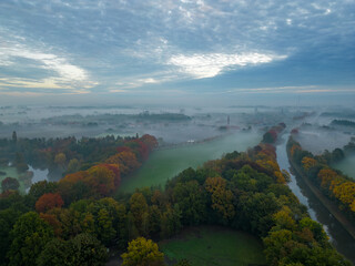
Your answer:
[[[355,0],[1,0],[0,104],[355,103]]]

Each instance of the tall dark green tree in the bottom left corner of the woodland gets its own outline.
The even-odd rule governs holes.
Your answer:
[[[53,237],[52,227],[34,212],[23,214],[11,232],[9,266],[36,265],[36,259]]]

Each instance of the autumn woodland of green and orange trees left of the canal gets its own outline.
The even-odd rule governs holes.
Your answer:
[[[273,127],[276,133],[268,132],[271,142],[282,129],[281,124]],[[81,168],[59,182],[36,183],[28,194],[3,185],[1,265],[104,265],[106,248],[122,254],[122,265],[165,265],[155,242],[199,225],[257,236],[267,265],[351,265],[286,185],[288,175],[280,170],[267,136],[246,152],[184,170],[164,190],[144,187],[134,193],[116,193],[120,180],[140,167],[156,140],[143,135],[111,141],[102,150],[98,143],[92,145],[100,157],[80,152],[82,141],[57,140],[53,146],[44,141],[37,152],[51,157],[63,153],[78,161],[80,156]],[[9,142],[17,152],[24,151],[20,143],[31,143],[16,137]],[[34,146],[40,142],[34,141]]]

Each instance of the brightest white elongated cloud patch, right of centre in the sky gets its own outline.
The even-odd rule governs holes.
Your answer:
[[[195,53],[192,55],[178,54],[171,57],[168,64],[175,65],[181,72],[195,79],[213,78],[226,68],[246,66],[261,63],[270,63],[274,60],[285,59],[286,55],[274,55],[265,53]]]

